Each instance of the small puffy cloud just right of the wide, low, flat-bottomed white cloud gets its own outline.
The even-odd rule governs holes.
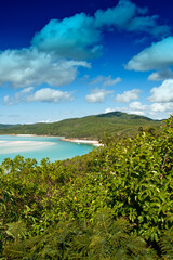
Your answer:
[[[93,89],[91,94],[85,96],[85,101],[89,103],[103,103],[106,95],[111,94],[114,91],[108,91],[105,89]]]

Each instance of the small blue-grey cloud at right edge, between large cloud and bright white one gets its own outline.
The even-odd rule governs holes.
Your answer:
[[[148,80],[160,81],[173,78],[173,72],[170,68],[160,69],[149,75]]]

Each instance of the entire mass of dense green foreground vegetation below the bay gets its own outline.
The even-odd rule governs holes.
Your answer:
[[[1,259],[173,259],[173,117],[50,162],[0,166]]]

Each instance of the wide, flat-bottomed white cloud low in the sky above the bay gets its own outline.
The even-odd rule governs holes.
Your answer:
[[[54,90],[50,88],[36,91],[34,94],[26,98],[27,102],[48,102],[48,103],[64,103],[72,101],[70,92]]]

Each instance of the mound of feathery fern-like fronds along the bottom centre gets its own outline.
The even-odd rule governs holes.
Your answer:
[[[59,222],[42,235],[5,246],[8,259],[156,259],[141,237],[130,233],[125,219],[115,220],[112,210],[99,212],[94,223]]]

